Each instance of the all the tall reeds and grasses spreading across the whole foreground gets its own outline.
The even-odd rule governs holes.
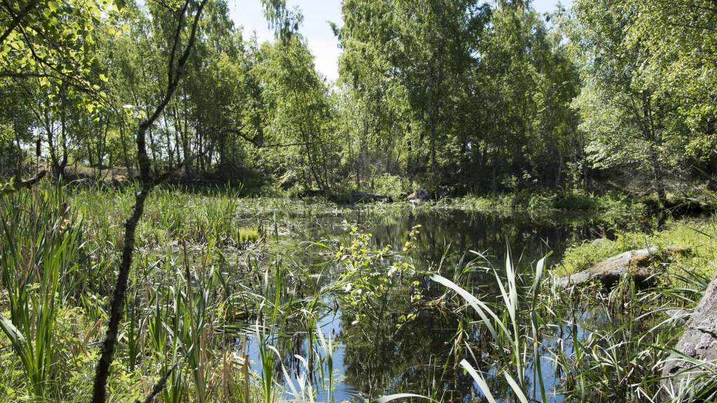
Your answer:
[[[0,374],[0,390],[23,389],[7,399],[86,396],[131,191],[43,185],[2,196],[0,359],[9,373]],[[694,269],[714,263],[699,250],[693,260],[665,262],[675,267],[659,288],[624,281],[612,293],[571,293],[555,288],[544,259],[527,270],[510,255],[493,267],[479,254],[465,267],[439,262],[422,272],[411,253],[419,228],[401,250],[372,246],[358,225],[348,237],[301,242],[274,214],[288,208],[316,210],[249,201],[232,189],[153,193],[138,229],[113,399],[142,400],[166,377],[161,402],[275,403],[287,394],[334,402],[337,351],[355,339],[325,333],[320,323],[340,309],[344,330],[364,343],[391,341],[427,318],[455,331],[445,346],[452,352],[428,359],[426,390],[388,379],[371,385],[390,394],[383,402],[456,399],[443,383],[457,382],[460,369],[488,402],[549,402],[554,394],[656,401],[660,366],[682,326],[665,312],[693,306],[709,280],[709,268]],[[251,343],[260,361],[253,366],[239,351]],[[704,374],[673,391],[675,401],[710,396],[715,374],[706,363],[693,366]]]

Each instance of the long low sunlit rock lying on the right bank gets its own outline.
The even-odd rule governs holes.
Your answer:
[[[561,277],[556,280],[556,284],[566,287],[597,280],[602,283],[604,288],[610,289],[617,284],[623,275],[630,275],[638,285],[649,285],[654,279],[655,273],[647,266],[655,257],[659,257],[665,252],[673,255],[675,253],[688,253],[690,249],[673,245],[666,247],[664,250],[660,250],[656,246],[630,250],[597,262],[592,267],[581,272]]]

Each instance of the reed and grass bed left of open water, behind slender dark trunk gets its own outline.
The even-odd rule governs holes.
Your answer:
[[[132,191],[42,184],[0,196],[0,403],[91,394]],[[232,326],[251,318],[257,326],[242,327],[251,336],[302,317],[303,298],[288,306],[277,292],[277,272],[302,267],[291,256],[270,263],[258,245],[261,223],[251,214],[281,202],[242,203],[227,190],[166,188],[148,199],[110,402],[143,401],[173,366],[159,402],[275,401],[260,387],[262,379],[277,383],[276,374],[244,371],[238,353],[246,342]],[[270,319],[259,320],[263,310]]]

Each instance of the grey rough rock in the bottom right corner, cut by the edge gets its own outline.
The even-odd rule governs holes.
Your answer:
[[[700,303],[685,325],[675,350],[663,366],[663,390],[677,391],[680,383],[688,381],[701,371],[715,371],[717,360],[717,278],[708,285]],[[711,361],[709,368],[693,368],[694,364],[685,361],[684,356],[698,361]],[[685,369],[692,369],[687,372]],[[670,394],[667,392],[666,394]]]

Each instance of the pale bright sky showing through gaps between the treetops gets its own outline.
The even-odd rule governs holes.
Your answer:
[[[259,42],[272,41],[274,34],[267,27],[261,1],[227,0],[234,24],[244,27],[244,34],[256,32]],[[569,7],[572,0],[561,0]],[[559,0],[533,0],[538,12],[554,11]],[[341,0],[286,0],[287,6],[298,6],[304,16],[299,31],[306,38],[315,57],[316,69],[328,80],[338,78],[338,40],[333,36],[328,22],[336,22],[341,27]]]

